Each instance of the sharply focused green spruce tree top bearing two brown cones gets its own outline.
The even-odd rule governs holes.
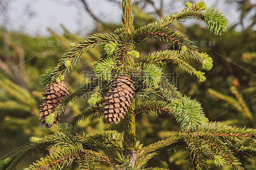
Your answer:
[[[46,97],[45,107],[40,112],[43,113],[44,121],[52,125],[58,122],[57,118],[61,117],[70,102],[84,93],[90,93],[90,108],[76,115],[71,122],[59,124],[59,127],[64,129],[68,125],[77,125],[88,116],[97,118],[104,115],[107,122],[111,123],[118,123],[123,118],[124,133],[109,130],[87,135],[82,127],[76,126],[71,133],[60,132],[44,138],[33,138],[32,143],[3,160],[1,169],[15,169],[23,158],[39,151],[45,156],[26,170],[61,169],[64,166],[91,170],[97,169],[99,163],[115,169],[137,170],[149,160],[158,162],[161,167],[148,167],[144,170],[168,170],[168,164],[157,154],[166,148],[172,156],[180,146],[186,155],[186,169],[207,169],[206,159],[213,160],[216,166],[230,164],[233,169],[244,169],[247,158],[255,159],[256,130],[209,122],[201,104],[183,96],[163,71],[165,63],[172,61],[190,75],[196,75],[199,81],[204,81],[204,73],[193,68],[186,60],[194,59],[201,64],[202,69],[210,70],[212,58],[199,52],[193,41],[169,25],[195,18],[204,20],[211,33],[222,35],[227,30],[227,18],[219,10],[207,8],[201,1],[196,4],[186,3],[183,10],[134,29],[131,0],[122,1],[122,11],[122,28],[116,29],[114,33],[92,34],[75,42],[60,58],[54,70],[42,75],[42,83],[47,85],[47,90],[43,94]],[[147,38],[172,45],[173,49],[141,56],[135,47]],[[64,80],[72,63],[79,61],[86,50],[95,46],[102,49],[100,61],[94,67],[95,77],[63,97],[68,94],[67,88],[57,89],[58,83]],[[59,95],[52,92],[55,88]],[[150,94],[158,96],[159,100],[150,100]],[[148,97],[149,100],[135,103],[139,96]],[[47,103],[51,103],[51,108]],[[153,113],[173,114],[180,129],[161,141],[143,146],[135,136],[135,115]],[[49,153],[48,148],[52,146],[61,149]]]

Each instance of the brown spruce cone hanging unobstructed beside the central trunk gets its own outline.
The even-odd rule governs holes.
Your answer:
[[[117,123],[120,117],[124,118],[125,112],[131,106],[130,98],[134,95],[132,79],[124,74],[117,76],[105,97],[103,115],[108,123]],[[124,115],[123,115],[124,114]]]

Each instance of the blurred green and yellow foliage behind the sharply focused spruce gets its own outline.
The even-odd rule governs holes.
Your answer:
[[[133,6],[135,28],[155,21],[154,17],[162,17],[164,11],[161,10],[161,2],[154,3],[151,0],[145,0],[144,5],[152,6],[154,9],[149,14],[143,12],[144,7],[140,8],[135,4]],[[199,82],[196,76],[188,75],[172,62],[167,64],[165,72],[172,75],[173,83],[182,94],[191,96],[192,99],[202,103],[204,113],[210,121],[221,121],[236,127],[256,128],[255,12],[249,19],[247,18],[249,26],[247,24],[245,27],[243,22],[248,13],[255,10],[256,6],[249,0],[227,0],[225,3],[236,8],[240,13],[240,21],[228,28],[228,32],[221,37],[210,34],[201,22],[193,22],[191,25],[172,25],[174,29],[187,35],[190,40],[197,42],[196,45],[201,52],[206,52],[213,58],[212,70],[205,73],[206,81]],[[160,8],[156,6],[160,6]],[[85,10],[93,18],[93,10],[88,8]],[[97,20],[97,18],[94,19]],[[121,20],[120,25],[100,20],[96,23],[93,32],[113,32],[116,28],[121,27]],[[240,26],[241,29],[236,29],[237,26]],[[64,26],[62,27],[63,34],[56,33],[49,28],[51,36],[48,37],[30,37],[24,33],[8,32],[4,27],[0,27],[1,159],[28,143],[31,137],[43,137],[59,131],[56,127],[45,130],[39,126],[38,108],[42,98],[41,93],[44,91],[40,75],[44,74],[45,70],[52,70],[61,55],[68,50],[69,43],[81,38],[77,35],[71,36],[72,33]],[[46,42],[46,47],[40,47],[39,44],[43,41]],[[49,41],[54,41],[53,47],[47,47]],[[205,42],[202,44],[202,41],[205,41],[206,44]],[[59,43],[59,46],[56,43]],[[138,44],[136,48],[141,55],[172,49],[154,39],[147,39],[145,43]],[[100,54],[101,50],[98,47],[93,48],[84,53],[76,66],[72,65],[73,70],[65,77],[65,84],[69,88],[69,92],[74,92],[82,83],[90,81],[86,78],[85,73],[93,69],[93,63],[100,58]],[[190,64],[199,68],[199,65],[192,60]],[[177,70],[177,77],[173,77],[173,70]],[[74,115],[87,107],[86,96],[76,100],[66,109],[61,122],[70,122]],[[86,128],[88,134],[96,134],[107,129],[123,131],[123,122],[113,125],[106,123],[103,118],[92,119],[89,117],[78,125]],[[178,125],[174,116],[137,115],[136,128],[137,139],[144,145],[148,145],[174,133],[178,129]],[[186,163],[182,154],[182,152],[177,152],[176,156],[172,158],[161,156],[161,153],[158,156],[171,163],[169,168],[175,170]],[[20,169],[27,167],[39,158],[40,155],[33,155],[26,159]],[[157,160],[154,160],[149,164],[154,166],[158,163]],[[232,169],[231,166],[217,168],[214,162],[210,162],[210,164],[212,169]],[[255,163],[252,162],[251,167],[255,169]],[[102,169],[104,168],[111,169],[107,166]]]

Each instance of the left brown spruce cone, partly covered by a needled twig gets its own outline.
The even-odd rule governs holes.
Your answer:
[[[61,100],[65,99],[65,96],[68,96],[68,88],[63,82],[57,83],[56,81],[50,82],[50,85],[45,87],[45,94],[42,94],[45,98],[43,98],[44,103],[40,105],[40,118],[42,124],[45,124],[46,128],[52,127],[51,124],[45,122],[46,117],[53,112],[54,108],[58,106]],[[54,118],[53,125],[59,123],[61,116],[57,116]]]

